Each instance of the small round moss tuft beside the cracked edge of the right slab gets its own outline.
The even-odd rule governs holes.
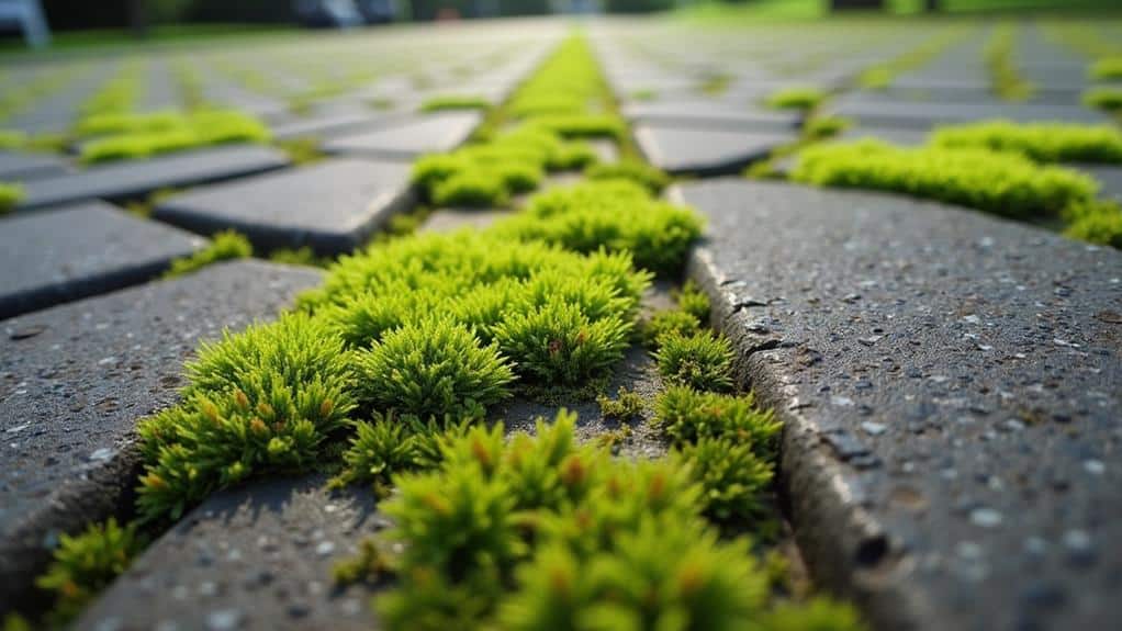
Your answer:
[[[664,335],[657,344],[654,359],[663,379],[698,390],[733,389],[733,346],[728,340],[705,332]]]

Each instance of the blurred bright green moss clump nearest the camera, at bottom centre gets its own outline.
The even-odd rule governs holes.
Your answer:
[[[578,446],[574,420],[509,442],[476,428],[436,471],[397,479],[385,510],[401,581],[377,601],[387,628],[737,629],[764,613],[766,573],[746,541],[699,519],[688,468]]]

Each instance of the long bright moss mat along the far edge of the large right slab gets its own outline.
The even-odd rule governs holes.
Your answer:
[[[1013,154],[927,147],[901,149],[865,140],[810,147],[791,178],[818,186],[872,188],[962,204],[999,215],[1058,215],[1094,198],[1091,177],[1038,166]]]

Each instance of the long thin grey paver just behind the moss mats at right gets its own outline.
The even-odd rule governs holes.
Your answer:
[[[829,113],[854,118],[864,124],[926,129],[987,119],[1017,122],[1067,121],[1110,123],[1111,118],[1079,105],[1038,103],[918,103],[890,100],[848,100],[840,98],[828,105]]]

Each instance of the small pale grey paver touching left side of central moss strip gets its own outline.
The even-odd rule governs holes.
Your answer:
[[[324,150],[408,160],[459,147],[481,121],[478,112],[411,117],[390,127],[337,138],[324,145]]]

